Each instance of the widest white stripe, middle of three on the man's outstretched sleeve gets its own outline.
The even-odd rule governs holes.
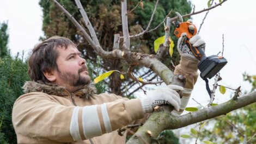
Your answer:
[[[102,135],[97,105],[83,107],[83,134],[86,139]]]

